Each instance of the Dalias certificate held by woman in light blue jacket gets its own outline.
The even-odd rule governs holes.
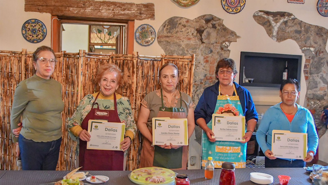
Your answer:
[[[273,130],[271,151],[277,158],[305,159],[307,152],[307,133]]]

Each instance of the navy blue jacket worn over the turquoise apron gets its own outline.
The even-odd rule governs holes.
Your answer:
[[[246,122],[250,119],[256,119],[257,121],[257,112],[251,93],[249,93],[249,91],[244,87],[238,85],[236,82],[233,83],[236,87],[236,92],[239,96],[239,101],[243,109]],[[216,82],[214,85],[207,87],[204,90],[194,111],[196,125],[196,120],[199,118],[205,119],[206,124],[210,122],[212,119],[212,114],[214,113],[217,95],[219,95],[219,82]]]

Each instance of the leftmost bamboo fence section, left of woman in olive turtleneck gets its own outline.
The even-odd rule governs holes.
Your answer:
[[[5,54],[4,54],[5,53]],[[11,140],[10,111],[14,91],[22,80],[22,61],[25,60],[26,50],[0,51],[0,169],[18,170],[16,165],[15,144]]]

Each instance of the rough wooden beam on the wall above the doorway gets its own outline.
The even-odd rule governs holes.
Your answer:
[[[94,0],[25,0],[25,12],[51,13],[60,17],[155,20],[154,3],[124,3]]]

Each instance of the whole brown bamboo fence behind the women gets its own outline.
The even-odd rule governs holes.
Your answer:
[[[86,53],[56,53],[58,63],[52,78],[62,84],[64,101],[63,140],[59,154],[57,170],[72,170],[75,168],[76,142],[72,141],[67,132],[67,119],[72,116],[79,101],[87,94],[99,91],[95,82],[98,67],[113,62],[123,72],[122,84],[116,93],[129,98],[135,121],[138,117],[140,101],[147,93],[159,89],[159,68],[165,63],[174,63],[179,69],[178,90],[191,95],[195,56],[166,56],[160,57],[122,54]],[[1,124],[0,170],[17,170],[14,144],[10,136],[10,108],[14,88],[23,79],[32,74],[32,52],[23,49],[22,52],[0,51],[0,85],[1,85]],[[137,131],[135,139],[129,148],[127,170],[138,167],[141,147],[141,134]]]

